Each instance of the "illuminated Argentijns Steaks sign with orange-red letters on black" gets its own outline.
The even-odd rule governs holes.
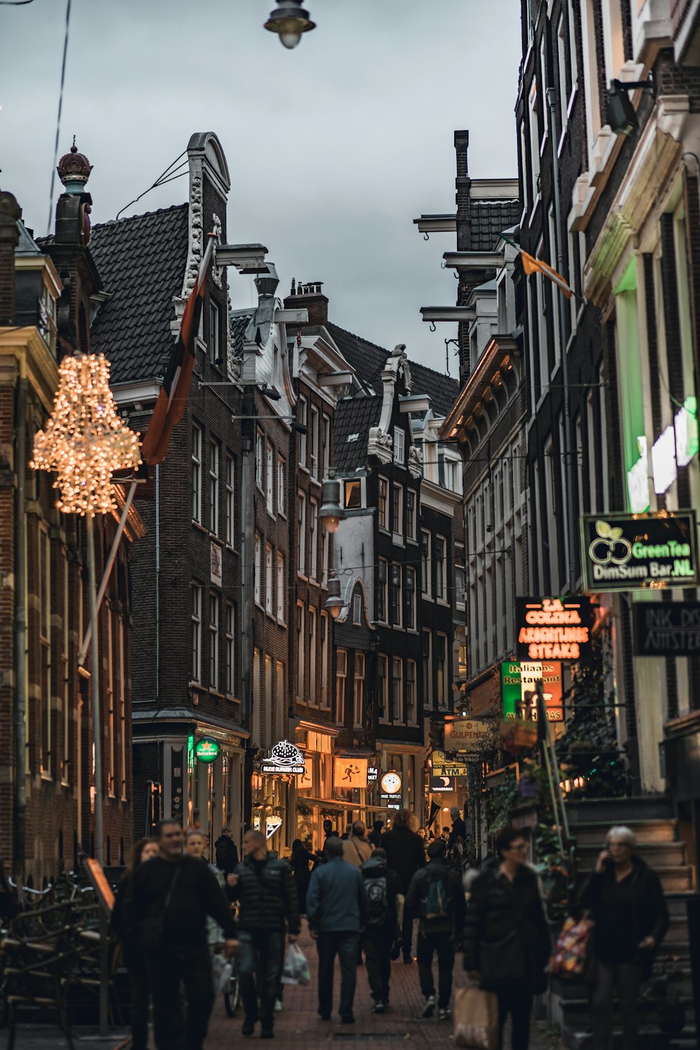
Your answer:
[[[516,597],[515,614],[522,660],[576,660],[591,644],[589,597]]]

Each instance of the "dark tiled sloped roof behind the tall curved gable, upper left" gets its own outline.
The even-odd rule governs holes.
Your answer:
[[[90,328],[96,352],[111,361],[112,382],[164,373],[187,265],[188,205],[149,211],[92,228],[90,253],[109,298]]]

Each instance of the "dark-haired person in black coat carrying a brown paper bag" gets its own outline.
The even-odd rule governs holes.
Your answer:
[[[525,863],[522,832],[506,827],[495,840],[497,857],[474,880],[464,929],[464,968],[499,999],[500,1036],[512,1014],[513,1050],[530,1042],[532,999],[547,987],[550,938],[537,877]]]

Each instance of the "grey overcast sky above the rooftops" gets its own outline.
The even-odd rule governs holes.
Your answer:
[[[229,240],[261,242],[287,294],[322,280],[331,319],[445,371],[454,234],[412,219],[454,209],[455,128],[474,178],[516,174],[517,0],[309,0],[317,28],[285,50],[273,0],[72,0],[60,152],[93,171],[94,223],[113,218],[187,146],[215,131],[232,177]],[[0,6],[0,186],[46,233],[66,0]],[[14,56],[13,61],[6,61]],[[60,187],[57,178],[57,191]],[[57,192],[56,191],[56,192]],[[185,178],[126,214],[186,200]],[[232,273],[234,307],[252,301]],[[451,357],[450,372],[457,375]]]

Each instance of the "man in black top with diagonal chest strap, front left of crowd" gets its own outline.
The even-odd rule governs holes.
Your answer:
[[[144,952],[153,995],[157,1050],[201,1050],[214,1005],[207,916],[224,930],[227,950],[236,947],[228,901],[210,870],[183,855],[183,830],[173,820],[156,828],[161,854],[133,873],[124,901],[124,928]],[[183,1024],[178,988],[185,989]]]

